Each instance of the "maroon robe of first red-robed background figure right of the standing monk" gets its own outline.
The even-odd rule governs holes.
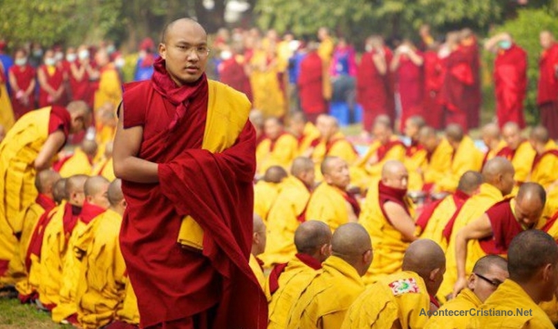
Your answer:
[[[300,105],[305,114],[326,112],[324,99],[324,68],[317,52],[310,52],[300,63],[297,80]]]

